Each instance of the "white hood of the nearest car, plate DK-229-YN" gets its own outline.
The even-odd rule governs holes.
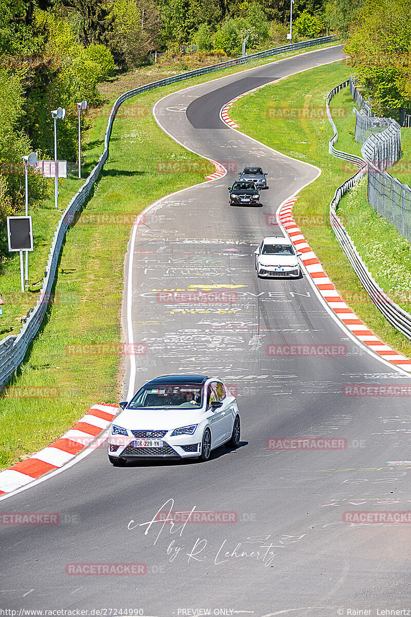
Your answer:
[[[163,431],[198,424],[203,409],[124,409],[113,424],[130,430]]]

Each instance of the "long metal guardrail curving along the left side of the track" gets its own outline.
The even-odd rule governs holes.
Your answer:
[[[41,287],[41,292],[39,295],[39,299],[36,302],[36,306],[34,307],[33,312],[30,313],[30,316],[26,319],[26,323],[20,329],[20,333],[17,336],[7,336],[5,339],[2,339],[2,341],[0,341],[0,387],[4,386],[4,384],[6,384],[7,381],[10,380],[10,378],[14,374],[14,371],[23,361],[30,342],[38,333],[41,323],[43,322],[44,315],[47,311],[47,306],[49,305],[49,299],[51,297],[51,291],[55,278],[55,271],[57,269],[57,262],[59,261],[60,251],[62,248],[65,233],[71,223],[73,223],[73,221],[75,220],[75,213],[81,209],[87,197],[89,197],[91,189],[93,188],[94,183],[99,177],[102,167],[107,160],[108,144],[110,142],[113,122],[115,120],[117,110],[120,105],[124,101],[127,101],[127,99],[136,96],[136,94],[142,94],[154,88],[161,88],[161,86],[168,86],[171,83],[176,83],[177,81],[190,79],[192,77],[198,77],[200,75],[206,75],[207,73],[213,73],[214,71],[219,71],[222,68],[229,68],[240,64],[246,64],[247,62],[251,62],[251,60],[258,60],[259,58],[277,56],[278,54],[282,54],[287,51],[295,51],[298,49],[312,47],[314,45],[331,43],[332,41],[336,40],[338,40],[336,36],[322,36],[317,39],[310,39],[309,41],[301,41],[301,43],[294,43],[292,45],[283,45],[282,47],[266,49],[265,51],[251,54],[250,56],[226,60],[225,62],[220,62],[219,64],[212,64],[185,73],[179,73],[178,75],[173,75],[173,77],[167,77],[162,80],[152,81],[152,83],[129,90],[128,92],[121,94],[121,96],[118,97],[115,104],[113,105],[113,109],[110,112],[110,117],[108,119],[107,130],[105,131],[104,138],[104,151],[100,156],[96,167],[94,167],[87,180],[84,182],[83,186],[79,189],[75,196],[73,196],[67,208],[65,209],[65,212],[60,218],[59,223],[57,224],[57,228],[54,233],[54,238],[49,253],[49,258],[47,259],[47,267],[44,273],[43,286]]]

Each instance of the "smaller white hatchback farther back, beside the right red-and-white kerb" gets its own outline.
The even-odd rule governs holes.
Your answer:
[[[299,278],[298,253],[289,238],[264,238],[258,249],[254,251],[256,256],[257,276],[291,276]]]

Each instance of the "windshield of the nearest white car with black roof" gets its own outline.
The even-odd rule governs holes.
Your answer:
[[[128,409],[188,408],[198,409],[203,404],[203,387],[198,384],[168,384],[143,386],[134,395]]]

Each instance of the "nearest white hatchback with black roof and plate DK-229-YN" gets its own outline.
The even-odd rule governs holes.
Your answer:
[[[147,458],[210,458],[211,450],[240,443],[237,401],[220,379],[166,375],[120,403],[108,436],[116,466]]]

